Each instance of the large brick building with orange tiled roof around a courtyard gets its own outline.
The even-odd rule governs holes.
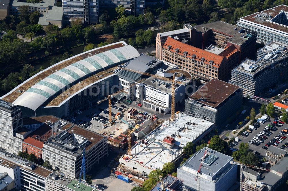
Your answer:
[[[228,81],[231,70],[255,55],[256,35],[225,22],[214,22],[158,33],[156,58],[172,63],[194,77]]]

